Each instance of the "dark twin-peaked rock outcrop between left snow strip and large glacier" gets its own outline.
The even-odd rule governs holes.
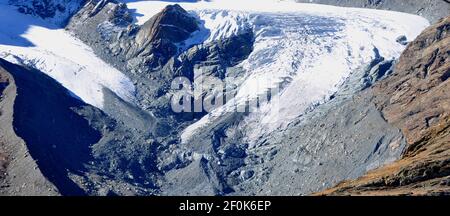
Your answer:
[[[125,4],[102,0],[87,3],[67,29],[119,68],[130,65],[134,70],[137,66],[155,70],[179,53],[177,43],[199,30],[199,24],[179,5],[169,5],[137,26]]]

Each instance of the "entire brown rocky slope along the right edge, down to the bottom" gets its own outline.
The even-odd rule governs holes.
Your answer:
[[[394,74],[365,94],[400,128],[399,161],[319,195],[450,195],[450,17],[409,44]]]

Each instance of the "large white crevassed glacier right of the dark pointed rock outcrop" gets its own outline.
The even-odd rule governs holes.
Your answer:
[[[124,2],[139,14],[136,16],[139,24],[165,5],[173,4],[167,1]],[[205,22],[205,28],[210,31],[206,41],[238,34],[248,28],[255,32],[254,51],[240,65],[246,74],[234,102],[242,103],[284,84],[280,97],[242,123],[250,143],[286,126],[311,106],[326,102],[352,71],[367,65],[377,53],[385,59],[397,58],[405,46],[396,39],[405,35],[413,40],[429,25],[426,19],[410,14],[290,1],[178,3]],[[187,141],[199,128],[220,118],[234,105],[228,103],[217,108],[189,126],[182,139]]]

